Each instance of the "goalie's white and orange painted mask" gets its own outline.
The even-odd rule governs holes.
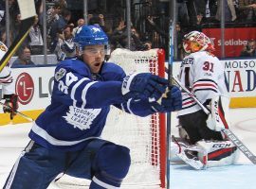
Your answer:
[[[195,53],[198,51],[214,51],[214,46],[210,43],[209,37],[199,31],[192,31],[184,36],[183,48],[186,53]]]

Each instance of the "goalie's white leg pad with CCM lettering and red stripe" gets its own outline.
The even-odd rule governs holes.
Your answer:
[[[229,165],[235,161],[237,147],[230,141],[199,141],[197,145],[204,151],[204,154],[198,153],[198,158],[206,167]]]

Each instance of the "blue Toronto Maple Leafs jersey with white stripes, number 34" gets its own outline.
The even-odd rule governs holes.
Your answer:
[[[36,119],[29,137],[46,148],[79,150],[89,139],[101,137],[110,105],[139,116],[153,113],[147,99],[123,98],[124,77],[114,63],[104,62],[95,75],[82,60],[62,61],[55,69],[51,104]]]

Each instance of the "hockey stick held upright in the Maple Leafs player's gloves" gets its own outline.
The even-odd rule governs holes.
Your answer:
[[[169,61],[168,61],[168,81],[169,85],[172,86],[172,76],[173,76],[173,58],[174,58],[174,21],[170,20],[169,24]],[[166,160],[166,177],[167,177],[167,189],[171,188],[170,184],[170,164],[171,164],[171,112],[167,113],[167,160]]]

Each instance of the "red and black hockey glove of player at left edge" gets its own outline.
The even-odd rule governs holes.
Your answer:
[[[3,107],[4,112],[9,112],[9,117],[12,120],[14,115],[19,108],[18,105],[18,95],[16,94],[5,94],[4,98],[6,99],[5,105]]]

